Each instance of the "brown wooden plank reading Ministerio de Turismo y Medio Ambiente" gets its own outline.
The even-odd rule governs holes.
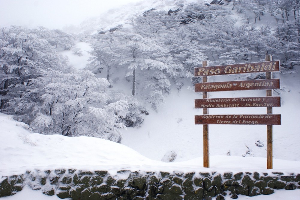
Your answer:
[[[195,108],[280,107],[280,97],[195,99]]]

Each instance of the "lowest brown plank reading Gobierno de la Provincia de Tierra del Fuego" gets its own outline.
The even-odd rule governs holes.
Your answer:
[[[281,125],[281,114],[195,115],[195,124]]]

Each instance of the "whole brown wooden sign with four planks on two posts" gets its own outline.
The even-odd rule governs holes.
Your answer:
[[[202,83],[195,83],[195,92],[202,92],[202,99],[195,100],[195,108],[202,108],[203,115],[195,115],[195,124],[203,125],[203,167],[209,167],[209,124],[260,124],[267,125],[267,169],[273,168],[273,125],[281,125],[281,115],[272,114],[272,107],[280,106],[280,97],[272,97],[272,89],[280,88],[280,79],[272,79],[272,72],[280,71],[279,61],[265,55],[265,62],[234,65],[207,66],[194,69],[194,76],[202,76]],[[207,76],[243,73],[266,74],[266,79],[239,80],[208,83]],[[266,90],[266,97],[208,98],[208,92]],[[209,115],[208,108],[266,107],[267,114]]]

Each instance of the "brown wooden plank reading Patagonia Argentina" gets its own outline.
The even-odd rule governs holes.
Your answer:
[[[195,92],[279,89],[280,79],[195,83]]]

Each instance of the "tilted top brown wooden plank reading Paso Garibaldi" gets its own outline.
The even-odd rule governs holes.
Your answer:
[[[230,75],[230,74],[274,72],[274,71],[280,71],[279,60],[232,64],[232,65],[195,67],[194,76],[195,77],[216,76],[216,75]]]

